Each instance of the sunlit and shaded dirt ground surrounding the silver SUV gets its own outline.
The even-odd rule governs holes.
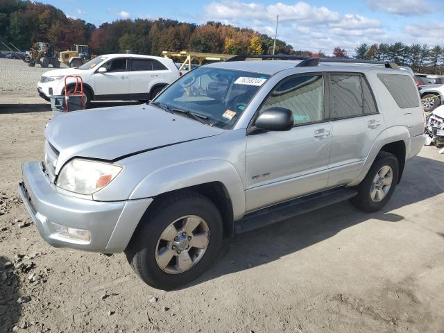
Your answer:
[[[29,111],[45,108],[0,105],[0,332],[444,332],[436,147],[407,164],[382,212],[345,202],[242,234],[200,279],[166,292],[123,255],[40,238],[17,183],[23,162],[42,160],[51,112]]]

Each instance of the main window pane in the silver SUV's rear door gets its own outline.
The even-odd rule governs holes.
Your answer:
[[[341,119],[364,113],[361,78],[352,74],[332,74],[332,117]]]

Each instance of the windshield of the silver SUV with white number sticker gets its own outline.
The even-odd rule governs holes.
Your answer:
[[[205,117],[210,126],[231,129],[268,75],[199,67],[171,84],[156,103]]]

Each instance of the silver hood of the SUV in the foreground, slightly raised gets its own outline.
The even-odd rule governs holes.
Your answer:
[[[143,104],[62,114],[48,123],[44,135],[60,153],[58,173],[71,157],[119,160],[221,133],[221,128]]]

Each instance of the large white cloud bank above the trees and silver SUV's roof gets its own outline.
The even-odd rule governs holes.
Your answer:
[[[212,2],[205,7],[203,22],[220,21],[274,35],[276,15],[279,15],[280,22],[278,38],[297,50],[322,50],[332,54],[335,46],[341,46],[352,55],[361,43],[375,44],[387,38],[377,19],[355,13],[341,15],[303,1],[294,5],[275,3],[268,6],[237,0]]]

